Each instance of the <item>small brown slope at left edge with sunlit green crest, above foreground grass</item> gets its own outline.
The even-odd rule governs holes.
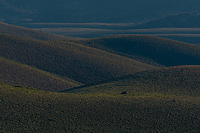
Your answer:
[[[61,91],[81,85],[42,70],[0,58],[0,82],[43,91]],[[19,86],[20,87],[20,86]]]

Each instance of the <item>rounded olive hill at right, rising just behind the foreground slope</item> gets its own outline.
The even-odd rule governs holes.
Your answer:
[[[66,90],[68,93],[130,95],[200,95],[200,66],[174,66],[138,72],[113,80]]]

